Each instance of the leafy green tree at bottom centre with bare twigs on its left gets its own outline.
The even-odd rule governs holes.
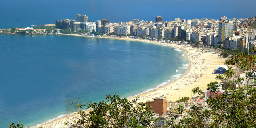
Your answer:
[[[77,126],[82,125],[85,128],[148,128],[152,127],[152,123],[156,123],[158,119],[154,119],[151,107],[145,103],[137,103],[138,97],[133,100],[120,98],[119,95],[106,95],[105,101],[99,103],[90,102],[87,104],[81,103],[80,99],[66,100],[69,110],[75,110],[82,117],[77,121],[69,118],[70,121],[66,124],[75,123]],[[81,111],[93,108],[89,113]]]

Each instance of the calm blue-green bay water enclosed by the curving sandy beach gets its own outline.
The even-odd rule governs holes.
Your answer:
[[[187,70],[183,54],[138,41],[0,34],[0,128],[65,115],[65,98],[98,102],[109,93],[125,97],[155,88]]]

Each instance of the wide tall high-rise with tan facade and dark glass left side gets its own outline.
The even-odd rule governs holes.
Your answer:
[[[233,21],[220,21],[219,22],[219,37],[218,42],[223,42],[225,37],[233,36],[233,27],[234,22]]]

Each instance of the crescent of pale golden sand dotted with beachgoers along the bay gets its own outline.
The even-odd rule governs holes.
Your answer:
[[[66,34],[65,34],[66,35]],[[82,35],[74,35],[72,36],[82,36]],[[92,37],[92,36],[85,36]],[[96,36],[93,36],[96,37]],[[169,43],[160,43],[157,41],[149,41],[143,39],[132,39],[132,38],[117,38],[117,37],[98,37],[98,38],[113,38],[120,40],[132,40],[132,41],[142,41],[142,42],[150,42],[156,44],[165,44],[174,46],[180,50],[186,51],[184,57],[186,57],[190,64],[187,66],[186,73],[182,74],[178,79],[172,80],[161,87],[155,88],[148,92],[144,92],[142,94],[138,94],[135,96],[139,96],[139,102],[146,102],[148,100],[153,100],[155,97],[166,97],[167,101],[179,100],[182,97],[191,97],[193,96],[191,90],[195,87],[200,87],[202,90],[206,90],[207,84],[211,81],[218,81],[214,77],[217,74],[212,74],[214,69],[217,69],[219,65],[223,65],[225,59],[218,57],[217,54],[205,53],[202,52],[198,48],[191,48],[190,46],[177,45],[177,44],[169,44]],[[177,72],[177,74],[179,71]],[[218,81],[219,82],[219,81]],[[129,99],[135,98],[135,96],[130,96]],[[68,115],[68,117],[74,116],[75,119],[79,118],[77,114]],[[66,116],[59,117],[57,119],[51,121],[45,121],[44,124],[41,124],[43,128],[62,128],[64,126],[64,122],[68,120]],[[38,126],[35,126],[38,127]],[[32,127],[33,128],[33,127]]]

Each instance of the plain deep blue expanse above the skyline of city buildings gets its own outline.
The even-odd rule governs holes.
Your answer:
[[[256,0],[0,0],[0,28],[54,24],[74,19],[76,14],[89,20],[109,22],[132,19],[163,21],[175,18],[248,18],[256,15]]]

